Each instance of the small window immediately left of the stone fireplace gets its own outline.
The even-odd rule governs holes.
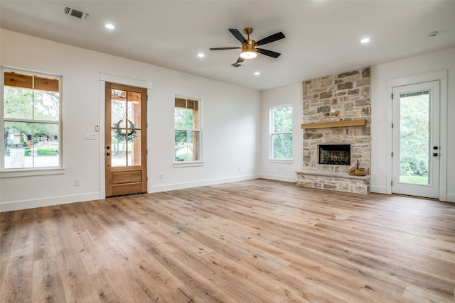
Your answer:
[[[292,106],[270,108],[270,158],[292,160]]]

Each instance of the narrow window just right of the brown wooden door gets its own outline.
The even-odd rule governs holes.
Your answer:
[[[200,161],[200,100],[175,98],[175,161]]]

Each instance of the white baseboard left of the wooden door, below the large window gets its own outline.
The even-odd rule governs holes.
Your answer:
[[[0,204],[0,212],[17,211],[20,209],[34,209],[36,207],[53,206],[100,199],[99,192],[89,192],[87,194],[75,194],[72,196],[49,197],[44,199],[33,199],[24,201],[5,202]]]

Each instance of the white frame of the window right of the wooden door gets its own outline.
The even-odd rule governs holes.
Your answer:
[[[176,106],[176,99],[185,99],[186,101],[191,100],[191,101],[197,101],[198,102],[198,109],[197,109],[197,121],[198,121],[198,128],[176,128],[176,119],[175,119],[175,112],[176,108],[181,108],[181,109],[188,109],[188,107],[181,107],[181,106]],[[202,111],[203,111],[203,99],[200,98],[194,98],[194,97],[186,97],[183,95],[176,94],[174,97],[174,103],[173,103],[173,111],[174,111],[174,128],[173,128],[173,134],[174,134],[174,144],[173,144],[173,165],[174,167],[188,167],[188,166],[201,166],[203,165],[203,153],[202,153],[202,137],[203,137],[203,121],[202,121]],[[193,116],[194,119],[194,116]],[[176,144],[175,144],[175,134],[176,131],[195,131],[198,132],[198,160],[186,160],[186,161],[177,161],[176,160]]]

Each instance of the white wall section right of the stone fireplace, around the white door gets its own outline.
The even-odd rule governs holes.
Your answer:
[[[372,179],[371,190],[385,193],[387,189],[387,80],[402,77],[420,75],[438,70],[448,70],[447,79],[447,111],[441,112],[446,115],[448,121],[445,128],[447,133],[447,175],[446,175],[446,200],[455,202],[455,48],[442,50],[435,53],[411,57],[404,60],[389,62],[371,68],[371,172],[378,178]],[[444,133],[444,132],[441,132]],[[442,156],[442,155],[441,155]]]

